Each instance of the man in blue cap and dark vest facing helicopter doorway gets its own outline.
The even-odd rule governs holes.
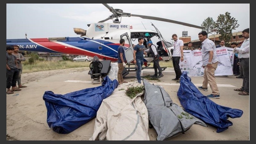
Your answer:
[[[157,51],[156,46],[152,43],[152,41],[149,41],[148,43],[149,49],[145,50],[145,52],[149,53],[149,56],[153,57],[154,61],[154,69],[155,69],[155,75],[152,76],[153,78],[160,78],[163,77],[164,75],[162,74],[162,69],[159,66],[159,54]],[[159,75],[157,76],[157,69],[159,71]]]

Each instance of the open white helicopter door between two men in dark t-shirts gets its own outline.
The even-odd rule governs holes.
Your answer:
[[[127,32],[124,33],[123,35],[121,35],[120,38],[125,40],[124,54],[125,54],[125,58],[127,60],[127,63],[130,63],[133,60],[132,41],[131,41]]]

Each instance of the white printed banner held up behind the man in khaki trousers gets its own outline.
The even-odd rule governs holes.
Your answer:
[[[233,48],[219,47],[216,48],[216,51],[219,64],[215,70],[215,76],[233,75]],[[183,54],[184,60],[180,61],[181,72],[188,72],[188,76],[204,76],[202,52],[200,50],[183,50]]]

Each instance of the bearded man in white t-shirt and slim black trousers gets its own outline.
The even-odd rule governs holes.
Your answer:
[[[183,41],[178,39],[176,34],[172,35],[172,39],[174,40],[173,44],[173,53],[172,53],[172,64],[176,74],[176,77],[172,79],[173,81],[179,81],[181,76],[180,70],[180,61],[183,61]]]

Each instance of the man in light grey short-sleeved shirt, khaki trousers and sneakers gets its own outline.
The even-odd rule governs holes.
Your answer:
[[[212,89],[212,94],[207,95],[210,99],[220,98],[220,92],[215,79],[215,70],[218,67],[218,60],[216,57],[216,47],[212,40],[207,38],[207,32],[201,31],[198,34],[199,40],[202,42],[202,60],[204,68],[203,85],[198,88],[208,91],[208,83]]]

